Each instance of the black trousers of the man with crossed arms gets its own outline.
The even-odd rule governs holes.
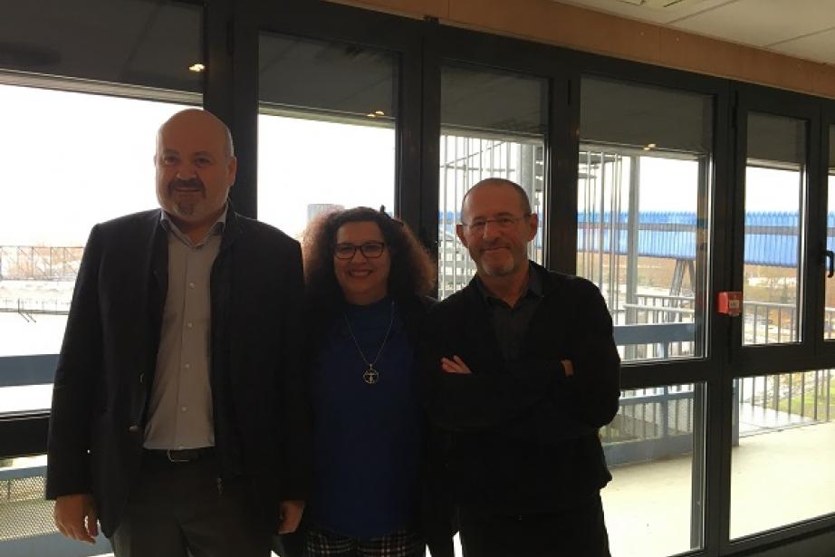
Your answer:
[[[464,557],[611,557],[600,495],[546,514],[459,510]]]

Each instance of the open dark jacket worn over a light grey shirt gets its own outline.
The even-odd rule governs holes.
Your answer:
[[[139,472],[168,288],[159,220],[153,210],[92,228],[55,374],[46,496],[91,493],[107,536]],[[230,207],[211,272],[216,448],[224,475],[251,480],[270,527],[309,484],[302,296],[298,243]]]

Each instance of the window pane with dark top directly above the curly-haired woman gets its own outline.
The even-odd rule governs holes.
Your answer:
[[[394,209],[397,61],[261,34],[258,217],[301,238],[331,207]]]

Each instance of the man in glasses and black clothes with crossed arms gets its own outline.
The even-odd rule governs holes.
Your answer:
[[[618,411],[619,355],[593,283],[528,260],[524,190],[488,178],[458,237],[477,273],[430,312],[427,410],[466,557],[609,557],[598,428]]]

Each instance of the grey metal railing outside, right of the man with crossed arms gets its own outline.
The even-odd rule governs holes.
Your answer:
[[[744,335],[759,343],[796,341],[797,312],[789,303],[744,303]],[[639,294],[636,303],[622,303],[613,312],[616,341],[636,359],[668,358],[692,353],[694,342],[675,335],[695,325],[692,296]],[[826,338],[835,338],[835,308],[826,308]],[[695,330],[694,330],[695,332]],[[667,336],[667,338],[665,338]],[[734,444],[739,437],[785,427],[835,420],[835,370],[788,371],[735,381]],[[618,415],[600,431],[612,464],[650,460],[693,450],[693,385],[627,390]],[[666,440],[665,440],[666,439]],[[624,444],[641,449],[624,450]]]

